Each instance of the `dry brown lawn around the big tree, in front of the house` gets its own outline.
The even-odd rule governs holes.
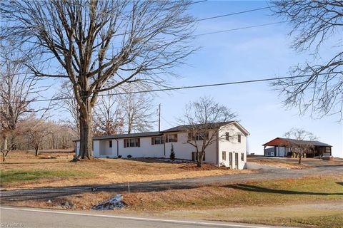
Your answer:
[[[53,156],[56,159],[41,159]],[[195,164],[170,163],[140,159],[96,159],[84,162],[70,162],[72,153],[42,153],[35,157],[33,152],[12,152],[6,162],[1,162],[2,170],[20,171],[71,171],[83,172],[80,178],[42,178],[35,181],[11,182],[3,184],[6,189],[61,187],[74,185],[109,185],[119,182],[144,182],[152,180],[173,180],[187,177],[232,175],[252,172],[250,170],[229,170],[206,164],[201,169]]]

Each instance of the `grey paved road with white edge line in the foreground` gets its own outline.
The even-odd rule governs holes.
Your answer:
[[[162,219],[114,215],[113,212],[67,212],[63,210],[29,209],[20,207],[0,208],[1,227],[231,227],[231,228],[265,228],[269,226],[254,224],[238,224],[225,222],[209,222],[196,220]]]

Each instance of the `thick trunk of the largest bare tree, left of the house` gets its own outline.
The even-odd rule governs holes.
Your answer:
[[[91,137],[91,111],[80,109],[80,151],[79,158],[91,159],[93,156]]]

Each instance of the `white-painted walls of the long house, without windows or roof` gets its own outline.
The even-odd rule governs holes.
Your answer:
[[[247,162],[247,137],[242,133],[237,125],[225,125],[219,130],[219,135],[225,135],[229,132],[229,141],[222,138],[219,142],[213,142],[205,150],[204,162],[212,164],[225,165],[229,167],[229,152],[232,152],[232,158],[235,159],[235,154],[238,154],[238,168],[245,168]],[[209,137],[213,131],[209,131]],[[177,134],[177,142],[166,142],[165,144],[151,145],[151,137],[140,138],[140,147],[124,147],[124,138],[115,140],[112,139],[112,147],[109,147],[109,140],[94,140],[94,157],[169,157],[172,145],[174,146],[175,157],[184,160],[192,160],[192,152],[196,152],[193,145],[187,143],[188,134],[183,132],[165,133],[164,135]],[[241,135],[241,142],[238,142],[237,135]],[[198,141],[199,145],[202,141]],[[201,147],[201,146],[200,146]],[[218,150],[217,150],[218,149]],[[222,151],[226,152],[226,160],[222,159]],[[76,142],[76,154],[79,154],[79,142]],[[244,161],[241,160],[241,155],[244,156]],[[234,161],[232,162],[235,168]]]

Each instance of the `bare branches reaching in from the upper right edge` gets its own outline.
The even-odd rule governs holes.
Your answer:
[[[314,62],[291,68],[294,78],[282,79],[272,85],[285,96],[284,104],[298,107],[300,113],[310,111],[319,116],[343,113],[343,51],[342,36],[334,41],[334,35],[342,35],[342,1],[274,1],[274,13],[287,19],[293,26],[292,48],[311,51]],[[332,56],[322,61],[319,50],[329,44]],[[324,46],[324,48],[328,48]]]

